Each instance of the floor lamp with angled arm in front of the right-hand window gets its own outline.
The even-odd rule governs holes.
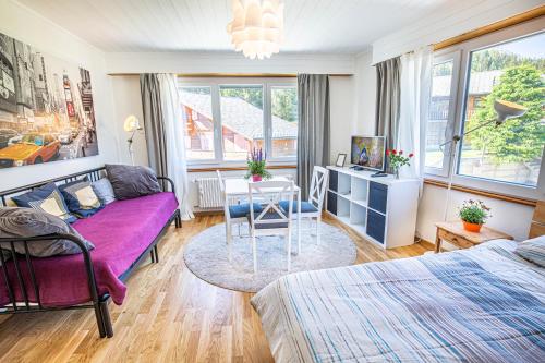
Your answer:
[[[447,201],[445,203],[445,210],[443,213],[443,220],[444,221],[447,221],[448,205],[450,203],[450,192],[452,190],[452,178],[455,176],[456,160],[457,160],[458,152],[459,152],[458,143],[465,135],[469,135],[479,129],[487,126],[491,123],[495,123],[496,128],[497,128],[497,126],[500,126],[501,124],[504,124],[504,122],[506,122],[506,120],[521,117],[522,114],[524,114],[526,112],[526,109],[524,107],[517,105],[517,104],[513,104],[513,102],[506,101],[506,100],[495,100],[494,101],[494,110],[496,111],[496,114],[497,114],[497,118],[495,120],[491,120],[491,121],[487,121],[483,124],[480,124],[479,126],[475,126],[471,130],[468,130],[467,132],[464,132],[461,135],[455,135],[452,137],[452,140],[449,140],[448,142],[439,145],[439,147],[443,147],[445,145],[450,144],[450,154],[449,154],[450,176],[449,176],[448,187],[447,187]]]

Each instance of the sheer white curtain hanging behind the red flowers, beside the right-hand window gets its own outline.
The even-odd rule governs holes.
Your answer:
[[[426,119],[432,94],[432,47],[421,48],[401,56],[400,116],[397,149],[414,153],[411,167],[400,169],[400,176],[419,178],[424,176]]]

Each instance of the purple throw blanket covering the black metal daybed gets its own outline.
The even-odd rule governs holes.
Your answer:
[[[126,287],[119,276],[126,271],[159,234],[178,208],[173,193],[157,193],[134,199],[116,201],[96,215],[81,219],[73,227],[95,244],[90,252],[99,295],[108,293],[120,305]],[[20,258],[28,299],[36,302],[24,258]],[[82,254],[33,258],[36,282],[44,306],[69,306],[90,301]],[[24,301],[13,268],[8,262],[15,300]],[[3,277],[0,279],[0,305],[9,303]]]

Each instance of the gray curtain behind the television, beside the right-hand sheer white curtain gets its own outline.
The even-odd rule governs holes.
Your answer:
[[[400,110],[399,57],[376,64],[376,134],[386,136],[389,149],[395,148]]]

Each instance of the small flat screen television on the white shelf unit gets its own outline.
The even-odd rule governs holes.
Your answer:
[[[352,136],[350,162],[365,169],[386,170],[385,136]]]

